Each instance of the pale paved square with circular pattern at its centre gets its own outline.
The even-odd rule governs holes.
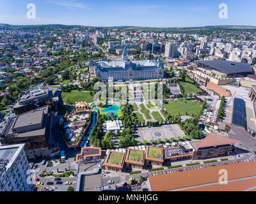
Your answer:
[[[150,142],[150,140],[164,140],[164,138],[170,140],[171,138],[178,138],[178,136],[185,136],[184,132],[177,124],[168,124],[153,128],[138,128],[136,133],[136,140],[141,142],[144,140],[147,140],[148,142]]]

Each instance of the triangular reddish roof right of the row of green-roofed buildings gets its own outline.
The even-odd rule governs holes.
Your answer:
[[[239,141],[227,138],[225,136],[217,135],[215,133],[210,133],[204,138],[204,140],[202,140],[202,142],[196,145],[196,149],[220,145],[230,145],[234,143],[239,143]]]

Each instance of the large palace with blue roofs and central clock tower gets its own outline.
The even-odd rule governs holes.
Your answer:
[[[157,61],[128,61],[126,49],[122,55],[122,61],[90,62],[90,72],[102,82],[128,80],[149,80],[164,77],[164,64],[160,59]],[[109,78],[110,77],[110,78]]]

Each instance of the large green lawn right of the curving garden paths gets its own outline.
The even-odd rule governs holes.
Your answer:
[[[195,99],[180,99],[178,101],[168,100],[168,104],[164,104],[163,107],[171,115],[186,115],[186,112],[192,116],[200,108],[200,102]]]

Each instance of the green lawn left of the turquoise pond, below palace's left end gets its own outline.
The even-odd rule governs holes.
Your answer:
[[[61,98],[63,102],[69,106],[75,102],[86,101],[86,103],[91,103],[93,101],[90,92],[81,92],[78,90],[72,90],[70,92],[61,92]]]

